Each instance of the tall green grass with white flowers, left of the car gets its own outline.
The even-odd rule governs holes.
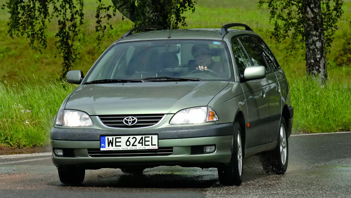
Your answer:
[[[64,88],[66,87],[66,88]],[[0,145],[12,148],[43,147],[49,143],[53,117],[73,85],[46,82],[33,85],[0,84]]]

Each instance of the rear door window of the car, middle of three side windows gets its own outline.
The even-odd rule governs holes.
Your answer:
[[[252,41],[250,37],[241,37],[239,38],[243,46],[245,47],[247,53],[249,54],[253,65],[260,65],[266,68],[266,72],[269,72],[269,68],[263,58],[263,55],[260,49]]]

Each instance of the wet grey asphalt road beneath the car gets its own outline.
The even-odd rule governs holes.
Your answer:
[[[350,142],[351,133],[291,136],[286,174],[267,175],[251,157],[244,160],[239,187],[220,185],[216,168],[178,166],[136,176],[119,169],[87,170],[81,186],[69,187],[60,183],[49,155],[0,156],[0,197],[351,197]]]

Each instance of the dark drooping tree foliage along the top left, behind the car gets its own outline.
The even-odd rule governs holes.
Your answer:
[[[109,26],[108,22],[119,10],[124,17],[139,25],[160,25],[170,28],[174,13],[172,28],[178,28],[179,23],[186,26],[185,17],[181,15],[187,10],[194,12],[196,0],[111,0],[114,6],[105,6],[101,0],[96,9],[95,31],[98,33],[97,46],[99,46],[104,33]],[[194,2],[193,2],[194,1]],[[59,29],[55,34],[55,46],[62,56],[62,72],[60,80],[65,79],[67,72],[72,68],[72,63],[79,58],[79,50],[75,41],[80,32],[84,19],[83,0],[7,0],[1,7],[8,9],[9,29],[11,38],[24,36],[30,40],[32,49],[42,53],[47,47],[47,23],[58,19]],[[175,8],[175,10],[174,10]],[[112,10],[113,14],[109,14]],[[174,12],[173,12],[174,11]],[[107,18],[106,24],[102,19]],[[122,18],[123,19],[123,18]],[[79,39],[78,39],[79,40]],[[56,57],[56,55],[55,55]]]

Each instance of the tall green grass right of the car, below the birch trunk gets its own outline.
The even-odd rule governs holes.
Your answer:
[[[330,80],[320,87],[309,76],[288,78],[294,107],[294,133],[328,133],[351,129],[351,83]]]

